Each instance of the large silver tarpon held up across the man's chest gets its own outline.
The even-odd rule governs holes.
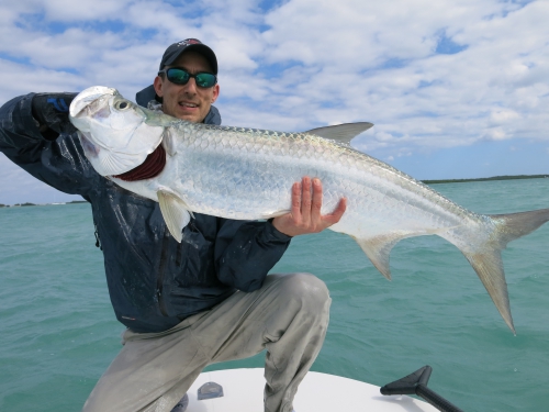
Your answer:
[[[501,249],[547,222],[549,209],[500,215],[470,212],[341,143],[371,123],[306,133],[197,124],[143,109],[107,87],[78,94],[70,104],[70,120],[96,170],[158,201],[179,242],[192,212],[244,220],[278,216],[290,210],[293,182],[318,177],[323,213],[347,198],[347,211],[330,229],[352,236],[386,278],[389,254],[400,240],[436,234],[463,253],[515,332]],[[158,176],[138,181],[113,177],[142,165],[159,145],[166,165]]]

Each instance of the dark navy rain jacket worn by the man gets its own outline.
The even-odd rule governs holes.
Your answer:
[[[31,114],[33,93],[0,109],[0,151],[37,179],[91,203],[107,282],[120,322],[160,332],[220,303],[236,289],[253,291],[285,252],[290,237],[269,222],[194,213],[179,244],[157,202],[96,172],[76,133],[42,136]],[[215,108],[206,122],[220,124]]]

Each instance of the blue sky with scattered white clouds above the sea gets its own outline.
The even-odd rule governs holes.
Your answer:
[[[223,124],[369,121],[352,146],[416,179],[549,174],[549,1],[0,0],[0,104],[153,82],[171,43],[220,65]],[[0,203],[79,199],[0,154]]]

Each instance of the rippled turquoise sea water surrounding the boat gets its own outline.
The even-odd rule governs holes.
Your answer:
[[[549,179],[434,188],[480,213],[549,207]],[[123,326],[94,243],[87,203],[0,209],[0,411],[79,411],[120,350]],[[330,290],[313,370],[383,386],[430,365],[429,388],[464,411],[549,411],[548,250],[549,224],[503,253],[516,336],[466,258],[437,236],[399,243],[392,281],[330,231],[293,240],[273,271],[311,271]]]

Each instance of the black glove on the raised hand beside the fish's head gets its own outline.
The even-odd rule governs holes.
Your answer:
[[[61,133],[74,133],[76,127],[68,119],[70,102],[78,93],[37,93],[32,101],[33,118],[40,132],[48,141],[55,141]]]

